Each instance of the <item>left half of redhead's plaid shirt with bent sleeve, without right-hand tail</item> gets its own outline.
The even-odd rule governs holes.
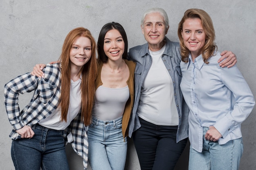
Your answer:
[[[14,78],[4,86],[4,104],[9,122],[13,126],[13,132],[10,135],[12,139],[18,137],[17,134],[14,134],[16,130],[25,125],[36,124],[49,116],[58,106],[61,77],[58,64],[47,64],[44,72],[45,78],[38,78],[26,73]],[[19,94],[32,91],[34,91],[34,96],[20,112]]]

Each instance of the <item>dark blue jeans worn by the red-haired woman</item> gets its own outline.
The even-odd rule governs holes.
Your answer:
[[[16,170],[69,170],[63,131],[34,124],[31,139],[12,141],[11,158]]]

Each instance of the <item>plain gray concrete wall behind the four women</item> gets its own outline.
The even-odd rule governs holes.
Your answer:
[[[0,169],[14,169],[10,155],[11,126],[4,108],[3,87],[17,75],[30,72],[36,63],[56,61],[65,36],[73,28],[88,28],[98,39],[107,22],[119,22],[126,30],[129,47],[146,41],[140,30],[143,12],[151,7],[166,10],[170,20],[167,37],[178,41],[177,24],[189,8],[204,9],[211,16],[218,49],[231,50],[256,96],[256,2],[255,0],[0,0]],[[23,108],[31,94],[20,96]],[[244,153],[240,170],[256,167],[256,109],[242,124]],[[132,140],[128,142],[126,169],[139,170]],[[82,160],[67,146],[72,170],[82,168]],[[176,170],[186,170],[186,148]]]

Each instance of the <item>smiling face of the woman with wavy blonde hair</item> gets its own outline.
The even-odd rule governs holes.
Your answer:
[[[182,28],[182,37],[193,59],[202,54],[202,48],[207,36],[203,30],[202,21],[199,18],[189,18],[185,20]]]

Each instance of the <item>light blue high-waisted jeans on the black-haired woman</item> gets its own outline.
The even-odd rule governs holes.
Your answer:
[[[93,170],[124,170],[127,140],[122,135],[122,116],[109,121],[92,117],[88,142],[88,161]]]

